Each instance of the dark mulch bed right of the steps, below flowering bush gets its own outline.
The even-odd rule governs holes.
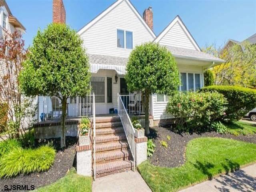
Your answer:
[[[170,136],[170,141],[167,139]],[[150,162],[156,166],[178,167],[185,163],[185,148],[187,143],[199,137],[220,137],[230,138],[256,144],[256,134],[234,136],[231,134],[218,134],[216,132],[205,132],[202,134],[177,134],[168,127],[155,127],[150,129],[150,137],[156,145],[155,152],[149,158]],[[168,148],[165,149],[160,141],[166,141]]]

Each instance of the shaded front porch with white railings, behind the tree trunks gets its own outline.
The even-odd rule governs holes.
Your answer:
[[[95,114],[102,116],[117,116],[118,95],[129,115],[143,115],[145,98],[141,93],[130,93],[124,75],[115,70],[103,70],[93,73],[90,86],[92,90],[85,97],[70,97],[67,101],[67,118],[81,118],[92,116],[93,99],[95,94]],[[55,96],[38,96],[37,122],[58,119],[62,115],[62,103]]]

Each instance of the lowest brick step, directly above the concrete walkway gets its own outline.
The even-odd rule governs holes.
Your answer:
[[[124,172],[126,170],[133,170],[133,168],[132,160],[120,160],[103,164],[96,164],[96,178]]]

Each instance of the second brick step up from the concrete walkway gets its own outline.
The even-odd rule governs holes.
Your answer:
[[[132,159],[130,150],[113,150],[108,152],[98,152],[95,154],[96,163],[113,162],[116,160]],[[94,160],[93,160],[94,162]]]

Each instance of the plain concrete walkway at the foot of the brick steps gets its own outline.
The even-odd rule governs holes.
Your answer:
[[[151,192],[138,171],[127,171],[96,178],[92,192]]]

